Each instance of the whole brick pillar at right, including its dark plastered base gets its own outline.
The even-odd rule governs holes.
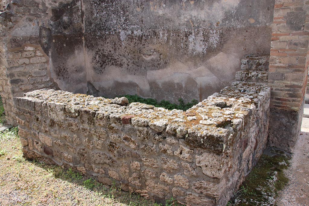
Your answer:
[[[269,144],[292,152],[299,137],[308,74],[309,1],[276,0],[270,50]]]

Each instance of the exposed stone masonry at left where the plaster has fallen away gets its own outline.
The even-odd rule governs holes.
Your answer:
[[[24,93],[35,89],[55,89],[56,84],[50,78],[49,58],[42,49],[25,44],[10,52],[1,52],[3,59],[0,73],[0,88],[3,106],[8,124],[16,125],[13,97],[22,97]]]

